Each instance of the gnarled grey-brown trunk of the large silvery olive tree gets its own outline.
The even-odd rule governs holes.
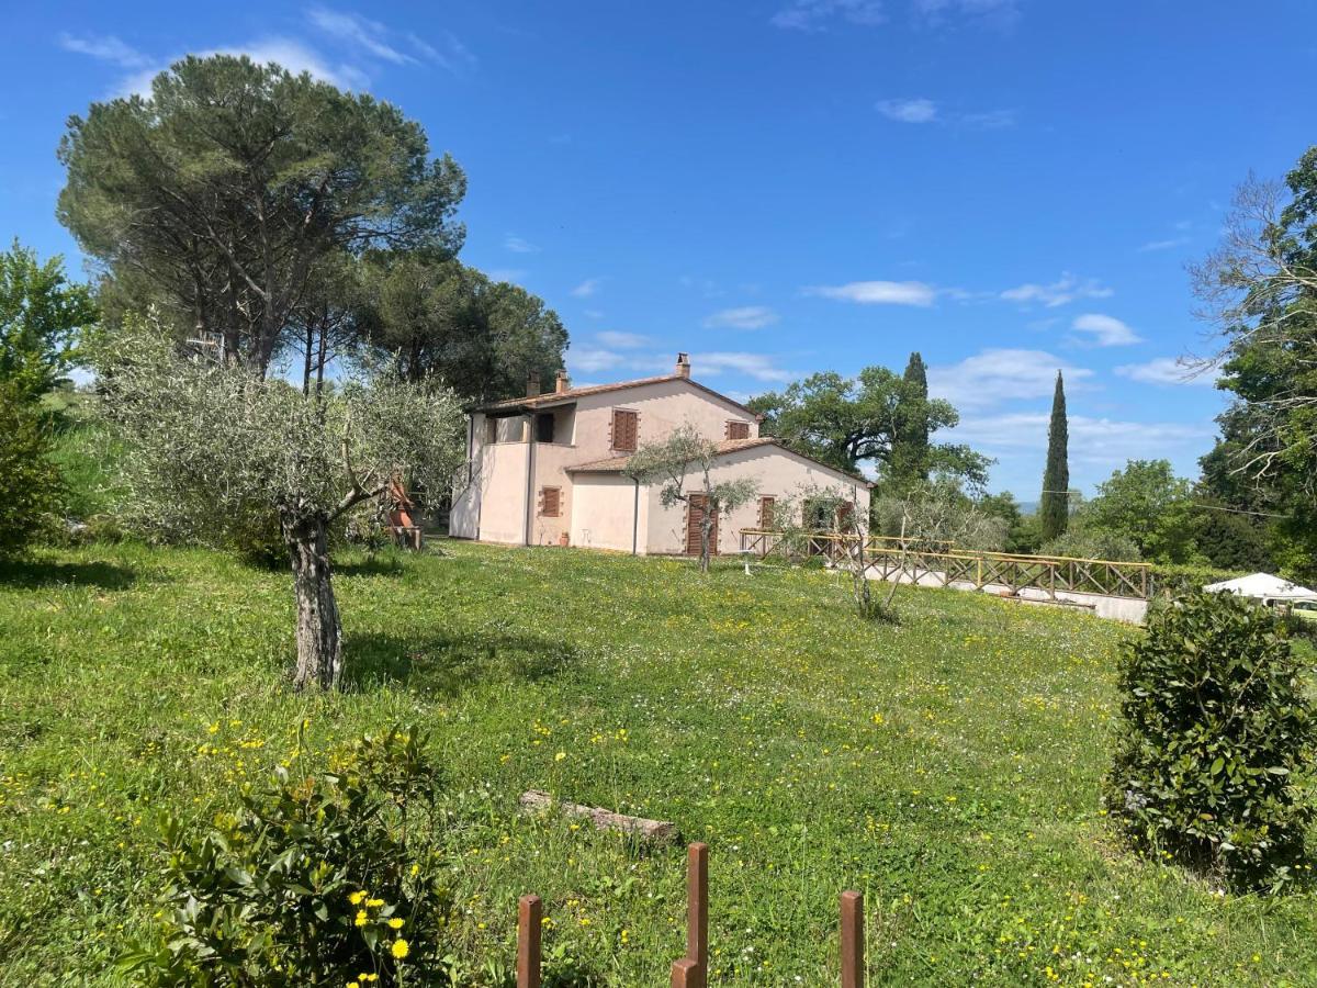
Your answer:
[[[329,522],[323,512],[281,512],[298,601],[298,668],[294,689],[333,689],[342,674],[342,623],[329,574]]]

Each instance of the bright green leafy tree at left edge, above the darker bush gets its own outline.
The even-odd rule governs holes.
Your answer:
[[[78,336],[97,320],[86,285],[65,277],[65,262],[45,263],[16,240],[0,254],[0,383],[9,399],[34,402],[65,383]]]

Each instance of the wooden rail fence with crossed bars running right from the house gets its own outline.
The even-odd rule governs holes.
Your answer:
[[[836,532],[784,532],[743,528],[740,548],[760,559],[780,556],[822,556],[832,563],[853,560],[861,549],[860,536]],[[926,543],[869,535],[863,543],[865,569],[880,580],[900,580],[921,585],[950,586],[971,584],[1005,586],[1011,593],[1042,590],[1096,594],[1100,597],[1152,595],[1151,564],[1069,556],[1025,556],[1009,552],[956,549],[951,543]]]

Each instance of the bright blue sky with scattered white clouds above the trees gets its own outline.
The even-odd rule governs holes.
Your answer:
[[[903,368],[1036,498],[1052,377],[1071,476],[1193,476],[1223,397],[1185,261],[1250,170],[1317,136],[1303,0],[28,4],[0,41],[0,233],[54,219],[68,115],[188,51],[246,51],[420,120],[469,178],[464,260],[541,295],[577,382],[744,398]]]

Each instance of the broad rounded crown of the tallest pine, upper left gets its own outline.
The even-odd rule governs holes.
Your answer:
[[[465,178],[431,161],[419,124],[245,57],[188,57],[149,97],[92,104],[59,157],[59,219],[119,283],[116,307],[161,303],[175,329],[261,374],[323,265],[452,253],[464,236]]]

